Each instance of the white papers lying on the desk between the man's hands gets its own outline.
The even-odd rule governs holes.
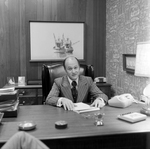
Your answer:
[[[92,112],[92,111],[100,110],[100,108],[91,107],[90,105],[85,104],[83,102],[75,103],[74,106],[75,107],[73,111],[77,113]]]

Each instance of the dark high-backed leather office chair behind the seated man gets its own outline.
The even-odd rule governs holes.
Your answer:
[[[51,64],[42,66],[42,94],[43,103],[45,103],[54,80],[66,74],[63,64]],[[89,76],[94,80],[94,69],[92,65],[80,64],[80,74]]]

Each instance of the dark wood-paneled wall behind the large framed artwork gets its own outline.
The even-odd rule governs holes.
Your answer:
[[[105,0],[0,0],[0,20],[0,87],[7,76],[41,79],[43,63],[29,62],[30,20],[85,22],[85,63],[105,76]]]

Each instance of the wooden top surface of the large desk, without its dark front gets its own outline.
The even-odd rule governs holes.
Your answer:
[[[142,105],[134,104],[128,108],[112,108],[105,106],[104,126],[95,126],[92,117],[85,118],[73,111],[49,105],[20,106],[17,118],[3,118],[0,125],[0,143],[6,142],[18,132],[18,124],[22,121],[34,121],[35,130],[27,131],[40,140],[65,139],[88,136],[104,136],[114,134],[131,134],[150,132],[150,117],[146,121],[128,123],[117,119],[118,114],[140,111]],[[67,129],[56,129],[55,122],[65,120]]]

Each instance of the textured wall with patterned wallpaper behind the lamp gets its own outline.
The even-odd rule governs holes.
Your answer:
[[[150,40],[150,0],[107,0],[106,76],[116,95],[140,99],[148,78],[123,71],[122,54],[136,54],[137,42]]]

